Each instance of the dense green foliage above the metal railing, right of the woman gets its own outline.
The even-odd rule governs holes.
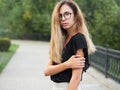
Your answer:
[[[81,0],[79,3],[96,45],[120,50],[119,3],[119,0]]]

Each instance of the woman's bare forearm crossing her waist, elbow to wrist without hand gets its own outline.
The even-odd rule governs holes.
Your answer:
[[[67,64],[64,63],[60,63],[58,65],[49,65],[46,67],[44,74],[45,76],[50,76],[50,75],[54,75],[57,74],[61,71],[64,71],[66,69],[68,69],[69,67],[67,66]]]

